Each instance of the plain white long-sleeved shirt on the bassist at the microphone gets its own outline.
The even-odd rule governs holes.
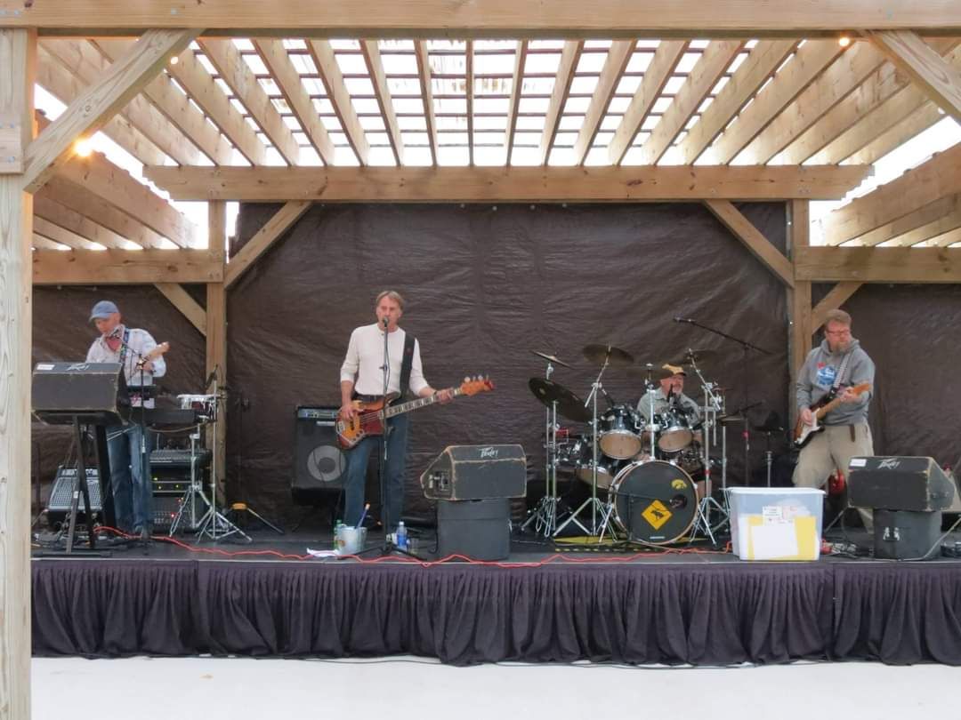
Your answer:
[[[390,374],[387,392],[401,392],[401,365],[404,363],[404,341],[407,333],[400,327],[387,333],[387,356]],[[340,366],[340,380],[354,382],[358,395],[383,394],[383,329],[378,324],[361,325],[351,333],[344,364]],[[410,392],[415,396],[429,387],[424,379],[420,358],[420,342],[414,341],[414,356],[410,366]]]

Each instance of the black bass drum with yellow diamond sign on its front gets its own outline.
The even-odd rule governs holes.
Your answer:
[[[631,463],[622,469],[611,483],[608,499],[614,520],[628,540],[654,545],[682,538],[698,514],[691,476],[663,460]]]

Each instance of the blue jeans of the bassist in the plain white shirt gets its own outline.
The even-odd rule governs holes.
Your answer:
[[[387,532],[393,532],[404,510],[404,468],[407,466],[407,415],[399,415],[387,420],[387,467],[384,472],[387,495],[387,514],[384,519],[390,523]],[[364,438],[354,449],[347,453],[347,484],[344,486],[344,522],[357,525],[363,513],[364,485],[367,479],[367,463],[371,450],[375,463],[381,462],[381,438]],[[384,522],[386,525],[386,522]]]

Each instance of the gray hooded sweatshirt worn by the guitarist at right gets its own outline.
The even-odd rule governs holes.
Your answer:
[[[861,343],[854,338],[850,339],[846,352],[832,353],[828,349],[827,340],[824,340],[819,347],[807,353],[795,387],[798,410],[810,407],[831,389],[845,355],[850,355],[850,360],[844,377],[841,378],[838,395],[845,388],[862,382],[870,383],[871,390],[862,393],[854,402],[842,402],[827,413],[822,420],[825,425],[856,425],[868,421],[868,405],[875,391],[875,363],[868,357],[868,353],[861,349]]]

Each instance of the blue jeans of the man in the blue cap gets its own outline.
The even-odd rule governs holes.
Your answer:
[[[139,425],[111,425],[107,428],[107,452],[111,460],[113,509],[119,530],[132,532],[154,524],[154,492],[150,476],[150,451],[154,433],[146,431],[147,457],[141,463]]]

